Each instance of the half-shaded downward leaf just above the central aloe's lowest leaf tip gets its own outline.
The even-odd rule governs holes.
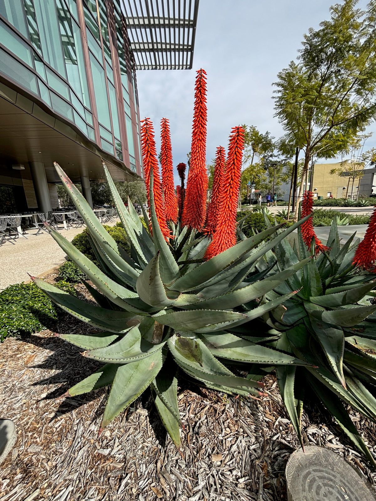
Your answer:
[[[181,424],[179,406],[177,403],[177,378],[176,372],[171,368],[171,362],[172,360],[164,362],[156,378],[151,382],[151,387],[156,392],[163,405],[172,414],[175,421]],[[172,362],[172,364],[174,364],[174,362]],[[177,369],[176,365],[175,369]]]

